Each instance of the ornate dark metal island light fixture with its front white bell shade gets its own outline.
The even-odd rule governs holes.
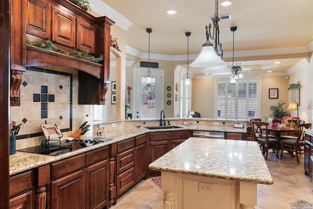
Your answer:
[[[190,64],[195,68],[209,68],[223,66],[226,63],[223,59],[222,44],[220,43],[219,30],[219,1],[215,0],[215,14],[213,19],[213,38],[211,36],[211,23],[205,25],[206,41],[202,44],[202,50],[197,59]],[[212,43],[213,42],[213,43]]]

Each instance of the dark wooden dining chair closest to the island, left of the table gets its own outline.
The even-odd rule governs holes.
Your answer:
[[[265,160],[268,159],[269,149],[272,149],[271,153],[276,153],[277,158],[279,150],[279,141],[268,137],[268,125],[267,122],[251,121],[253,137],[259,143],[262,153],[266,153]]]

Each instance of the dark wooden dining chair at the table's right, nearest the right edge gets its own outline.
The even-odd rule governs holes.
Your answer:
[[[295,157],[297,159],[297,162],[299,163],[299,157],[298,154],[301,154],[301,148],[304,147],[304,131],[303,128],[310,129],[312,126],[312,123],[302,123],[299,124],[299,132],[297,139],[285,139],[282,140],[281,143],[281,152],[280,152],[280,158],[283,158],[283,154],[288,154],[291,156],[294,156],[293,152],[295,152]],[[287,152],[284,153],[284,150]]]

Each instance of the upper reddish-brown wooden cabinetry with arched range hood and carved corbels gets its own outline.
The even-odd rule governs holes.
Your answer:
[[[84,104],[105,104],[110,83],[110,27],[108,17],[94,17],[67,0],[11,0],[11,69],[28,66],[64,66],[84,71],[96,78],[96,100]],[[89,50],[89,56],[104,59],[94,63],[53,50],[26,44],[51,40],[59,49],[71,52]],[[95,41],[96,40],[96,41]],[[22,73],[12,71],[11,106],[19,106]],[[79,80],[80,86],[86,79]],[[14,85],[12,85],[14,84]],[[85,87],[84,87],[85,88]],[[80,91],[79,91],[80,92]],[[87,89],[87,92],[90,92]],[[80,96],[80,95],[79,95]],[[84,95],[82,95],[84,97]]]

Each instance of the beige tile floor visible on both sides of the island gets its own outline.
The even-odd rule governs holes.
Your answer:
[[[291,209],[292,203],[306,200],[313,203],[312,178],[304,175],[304,156],[284,155],[277,159],[268,154],[268,169],[274,180],[273,185],[258,184],[258,198],[255,209]],[[163,209],[163,192],[151,181],[142,180],[127,193],[117,199],[110,209]]]

